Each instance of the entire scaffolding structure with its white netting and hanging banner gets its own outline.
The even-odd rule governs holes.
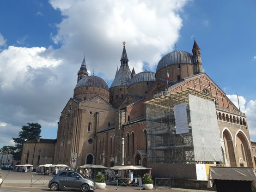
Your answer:
[[[146,103],[147,156],[152,163],[222,163],[214,98],[195,90]]]

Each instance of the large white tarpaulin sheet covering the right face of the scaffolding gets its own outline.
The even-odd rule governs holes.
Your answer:
[[[189,94],[195,161],[223,162],[215,104]]]

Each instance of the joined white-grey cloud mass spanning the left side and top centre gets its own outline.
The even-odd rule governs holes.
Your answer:
[[[84,54],[87,70],[95,69],[95,75],[111,82],[126,41],[130,68],[139,73],[147,63],[147,70],[155,72],[161,55],[179,38],[178,13],[187,0],[161,2],[50,0],[63,15],[58,32],[51,34],[60,48],[21,47],[24,36],[17,41],[20,47],[0,52],[0,122],[6,125],[0,126],[0,145],[18,137],[27,122],[40,123],[43,138],[45,132],[54,135],[61,110],[73,96]],[[0,46],[5,43],[0,35]]]

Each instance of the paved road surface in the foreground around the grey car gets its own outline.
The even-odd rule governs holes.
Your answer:
[[[16,171],[1,170],[1,179],[3,183],[0,187],[0,192],[49,192],[48,181],[51,176],[38,175],[35,172],[21,173]],[[114,192],[131,192],[140,190],[139,187],[118,186],[115,182],[106,183],[104,191]],[[102,192],[103,190],[96,189],[94,192]],[[154,191],[156,191],[154,189]],[[197,189],[181,189],[181,188],[157,188],[158,192],[214,192],[210,190],[197,190]],[[69,191],[65,191],[69,192]]]

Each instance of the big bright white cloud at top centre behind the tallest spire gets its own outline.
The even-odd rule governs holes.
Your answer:
[[[129,65],[138,73],[142,71],[140,63],[146,62],[150,71],[178,40],[182,19],[177,12],[185,0],[93,2],[50,1],[67,17],[58,24],[53,41],[63,43],[63,49],[85,53],[88,68],[93,65],[104,73],[110,66],[119,66],[122,42],[126,41]],[[105,73],[105,78],[113,78],[115,73]]]

